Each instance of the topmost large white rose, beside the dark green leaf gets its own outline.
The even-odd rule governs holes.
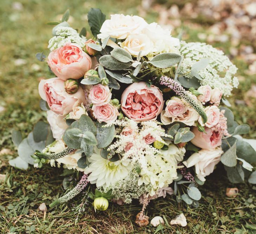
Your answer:
[[[105,20],[100,28],[99,39],[111,38],[125,39],[129,34],[141,33],[147,25],[146,21],[137,16],[114,14],[110,20]]]

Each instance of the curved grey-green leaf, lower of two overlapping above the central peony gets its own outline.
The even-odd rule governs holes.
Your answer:
[[[110,70],[124,70],[131,67],[130,62],[120,62],[112,55],[103,55],[99,59],[100,64]]]

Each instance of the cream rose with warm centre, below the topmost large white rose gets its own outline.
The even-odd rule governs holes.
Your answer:
[[[149,54],[153,47],[153,42],[146,34],[130,34],[124,42],[118,43],[131,55],[138,55],[142,51],[141,56]]]

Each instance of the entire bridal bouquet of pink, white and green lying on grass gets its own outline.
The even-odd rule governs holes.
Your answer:
[[[217,163],[232,183],[256,183],[253,140],[243,139],[225,99],[237,88],[237,68],[222,51],[171,36],[139,16],[88,13],[93,38],[68,23],[67,11],[54,26],[46,56],[54,78],[41,80],[38,122],[21,141],[11,165],[63,166],[81,172],[80,181],[50,207],[81,193],[95,209],[108,200],[143,205],[176,196],[198,207],[203,185]],[[225,176],[225,175],[223,175]]]

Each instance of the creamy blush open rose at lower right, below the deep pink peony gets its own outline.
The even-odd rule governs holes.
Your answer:
[[[198,153],[193,153],[183,164],[188,168],[195,166],[198,179],[205,181],[205,176],[210,175],[215,165],[221,160],[222,153],[221,147],[201,149]]]

